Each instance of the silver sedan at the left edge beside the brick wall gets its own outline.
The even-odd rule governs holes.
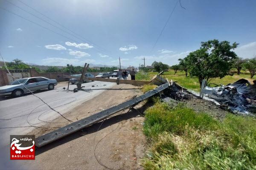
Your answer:
[[[12,82],[11,85],[5,85],[0,87],[0,95],[12,95],[18,97],[22,96],[25,93],[28,93],[29,90],[37,91],[45,88],[53,90],[54,86],[57,84],[58,82],[56,79],[47,79],[45,77],[17,79],[14,82]],[[24,86],[29,90],[27,90]]]

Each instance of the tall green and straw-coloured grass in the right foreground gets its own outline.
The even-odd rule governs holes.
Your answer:
[[[218,122],[206,113],[156,102],[145,112],[151,143],[145,170],[256,169],[256,119],[228,114]]]

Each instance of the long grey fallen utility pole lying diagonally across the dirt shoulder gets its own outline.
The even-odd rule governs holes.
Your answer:
[[[163,85],[158,86],[154,90],[148,91],[148,92],[146,92],[145,94],[143,94],[141,96],[135,97],[134,99],[130,99],[130,100],[128,100],[126,102],[123,102],[119,105],[116,105],[112,108],[108,108],[104,111],[93,114],[93,115],[91,115],[89,117],[86,117],[84,119],[81,119],[77,122],[73,122],[73,123],[71,123],[67,126],[61,127],[57,130],[46,133],[42,136],[38,136],[35,139],[35,146],[42,147],[42,146],[44,146],[46,144],[49,144],[49,143],[51,143],[55,140],[61,139],[64,136],[67,136],[71,133],[74,133],[78,130],[81,130],[84,127],[88,127],[90,125],[93,125],[96,122],[99,122],[99,121],[101,121],[103,119],[106,119],[107,117],[109,117],[109,116],[111,116],[115,113],[118,113],[119,111],[122,111],[122,110],[127,109],[127,108],[131,108],[134,105],[137,105],[138,103],[142,102],[143,100],[148,99],[149,97],[154,96],[155,94],[158,94],[161,91],[163,91],[163,90],[165,90],[169,87],[170,87],[170,83],[167,82]]]

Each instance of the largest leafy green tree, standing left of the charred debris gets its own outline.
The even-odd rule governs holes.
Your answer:
[[[197,76],[200,85],[203,79],[209,83],[214,77],[223,78],[229,73],[233,60],[236,59],[236,53],[232,50],[237,45],[236,42],[230,45],[228,41],[219,42],[218,40],[201,42],[201,48],[186,57],[189,74]]]

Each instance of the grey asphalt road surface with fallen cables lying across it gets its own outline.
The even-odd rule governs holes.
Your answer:
[[[92,87],[94,85],[95,87]],[[66,91],[67,84],[61,83],[52,91],[36,91],[35,95],[43,99],[47,104],[60,113],[67,113],[75,106],[92,99],[107,88],[111,88],[115,83],[111,82],[87,82],[82,84],[86,91]],[[76,85],[70,85],[70,90]],[[92,89],[92,90],[90,90]],[[94,89],[94,90],[93,90]],[[71,114],[71,113],[70,113]],[[34,126],[44,125],[60,116],[55,111],[49,109],[40,99],[32,94],[21,97],[7,97],[0,101],[0,148],[9,145],[10,135],[29,133]],[[64,119],[64,121],[66,121]]]

